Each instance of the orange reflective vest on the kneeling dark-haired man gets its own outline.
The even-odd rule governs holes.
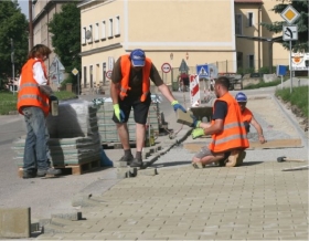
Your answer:
[[[227,114],[224,119],[223,130],[212,135],[212,142],[209,148],[214,153],[247,148],[249,143],[238,103],[230,93],[226,93],[216,101],[226,102]],[[215,120],[212,120],[212,124],[214,124],[214,122]]]

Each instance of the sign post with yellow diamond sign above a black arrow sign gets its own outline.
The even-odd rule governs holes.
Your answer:
[[[291,70],[291,41],[298,40],[298,29],[297,25],[291,25],[299,17],[299,12],[296,11],[292,6],[288,6],[280,14],[284,20],[288,23],[288,25],[283,27],[284,33],[284,41],[289,41],[289,49],[290,49],[290,93],[292,92],[292,70]]]

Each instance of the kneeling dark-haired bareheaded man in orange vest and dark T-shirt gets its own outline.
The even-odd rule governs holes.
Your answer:
[[[212,135],[209,146],[201,148],[192,158],[194,168],[203,168],[207,164],[219,163],[227,167],[241,166],[245,158],[245,151],[249,146],[246,129],[242,122],[239,106],[228,93],[230,81],[220,76],[214,84],[214,93],[217,97],[214,102],[212,122],[202,123],[193,116],[194,127],[192,137]],[[225,160],[227,159],[227,163]]]

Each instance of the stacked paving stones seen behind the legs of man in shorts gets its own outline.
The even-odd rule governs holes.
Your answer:
[[[159,134],[159,117],[160,117],[160,107],[159,99],[157,95],[152,95],[152,102],[149,108],[148,114],[148,124],[151,125],[151,129]],[[102,102],[102,105],[98,105],[97,118],[98,118],[98,132],[103,143],[120,143],[118,137],[117,127],[113,122],[113,102],[111,98],[105,98]],[[136,142],[136,123],[134,119],[134,114],[131,109],[130,117],[128,119],[128,130],[129,130],[129,140]]]

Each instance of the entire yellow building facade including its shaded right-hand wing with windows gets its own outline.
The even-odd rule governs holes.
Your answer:
[[[108,83],[106,72],[121,54],[142,49],[160,71],[169,63],[173,72],[163,74],[170,84],[184,60],[195,72],[196,64],[213,63],[219,72],[269,65],[273,57],[288,63],[288,52],[279,43],[236,38],[269,36],[258,22],[276,21],[270,9],[275,0],[85,0],[81,1],[82,90]],[[280,18],[280,17],[279,17]],[[241,21],[241,22],[239,22]],[[281,20],[279,20],[281,21]],[[275,64],[275,63],[274,63]]]

